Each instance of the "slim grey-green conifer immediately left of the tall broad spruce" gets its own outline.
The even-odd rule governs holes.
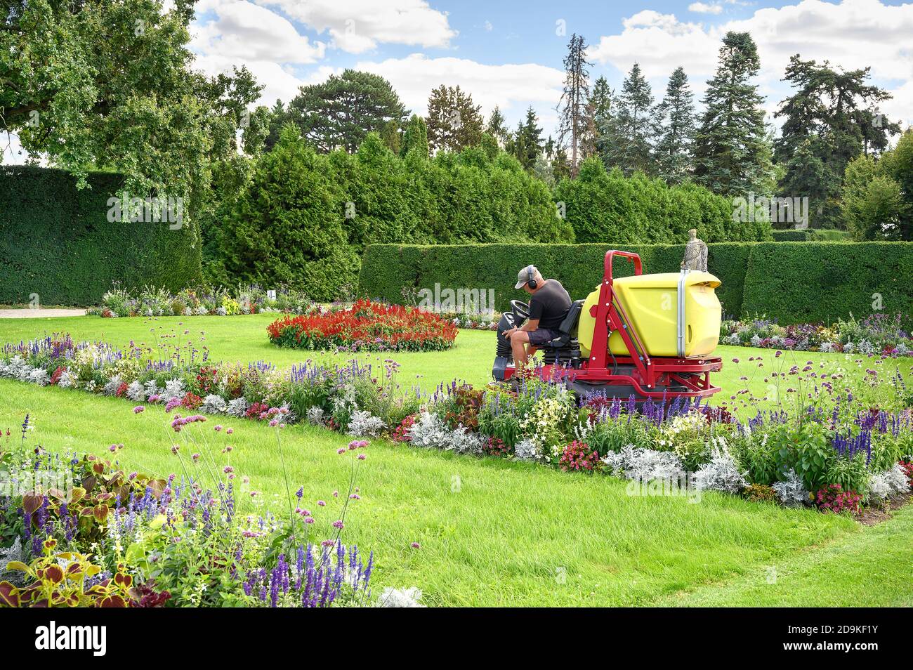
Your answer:
[[[694,94],[688,86],[685,68],[676,68],[669,77],[659,115],[663,125],[656,142],[657,173],[666,183],[681,183],[691,171],[696,122]]]

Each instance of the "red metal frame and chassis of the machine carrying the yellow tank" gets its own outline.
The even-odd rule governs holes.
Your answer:
[[[596,319],[590,358],[581,361],[579,368],[557,364],[544,365],[538,370],[540,377],[553,381],[569,380],[610,386],[631,386],[635,390],[635,395],[642,400],[673,400],[678,396],[706,398],[719,392],[719,386],[714,386],[710,382],[710,372],[719,372],[723,368],[719,356],[687,359],[651,357],[646,353],[644,343],[631,325],[631,319],[625,313],[614,290],[614,256],[621,256],[634,263],[635,275],[643,274],[643,264],[637,254],[614,249],[607,251],[603,263],[599,302],[590,309],[590,315]],[[607,367],[609,336],[614,331],[617,331],[624,341],[628,355],[614,356],[613,367]],[[614,373],[618,366],[629,368],[630,373]],[[516,369],[508,368],[505,372],[505,379],[509,379]],[[673,384],[678,388],[672,390],[670,387]]]

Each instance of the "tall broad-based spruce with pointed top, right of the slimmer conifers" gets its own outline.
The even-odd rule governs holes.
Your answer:
[[[695,180],[714,193],[770,195],[761,191],[763,98],[757,85],[750,83],[760,67],[758,47],[748,33],[729,31],[723,37],[694,142]]]

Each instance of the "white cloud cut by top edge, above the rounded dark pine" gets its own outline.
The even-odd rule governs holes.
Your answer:
[[[257,0],[276,5],[292,19],[320,33],[333,47],[360,54],[379,43],[449,47],[456,37],[446,12],[425,0]]]

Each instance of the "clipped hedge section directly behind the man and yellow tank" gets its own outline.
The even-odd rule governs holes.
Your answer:
[[[720,302],[727,313],[741,310],[742,286],[750,247],[743,243],[709,246],[710,270],[723,282]],[[590,245],[371,245],[362,257],[360,293],[368,298],[402,302],[404,290],[421,288],[494,289],[495,309],[509,308],[519,268],[530,263],[545,277],[561,281],[572,298],[585,298],[603,278],[603,258],[609,246]],[[641,256],[645,272],[677,272],[684,245],[614,246]],[[619,258],[615,277],[625,277],[633,266]]]

